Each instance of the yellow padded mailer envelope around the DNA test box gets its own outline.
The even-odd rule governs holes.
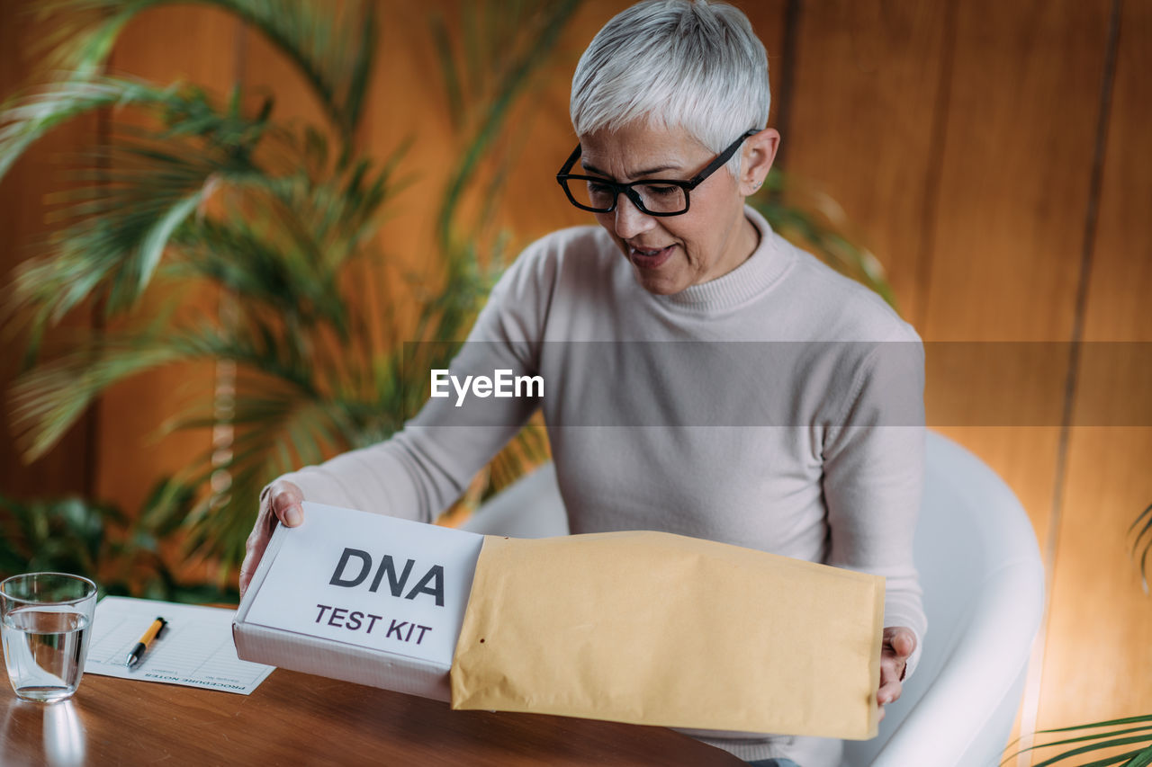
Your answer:
[[[884,578],[638,531],[484,541],[452,707],[877,732]]]

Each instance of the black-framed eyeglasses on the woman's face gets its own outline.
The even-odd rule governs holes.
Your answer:
[[[627,184],[620,184],[608,179],[601,179],[600,176],[571,174],[568,172],[576,165],[576,160],[579,159],[581,154],[581,145],[577,144],[571,157],[564,162],[564,167],[560,168],[560,173],[556,174],[556,181],[563,187],[564,193],[568,195],[571,204],[582,211],[611,213],[616,210],[616,200],[623,193],[628,199],[632,200],[632,205],[649,215],[680,215],[688,212],[690,202],[689,192],[699,187],[705,179],[732,159],[732,155],[736,153],[740,145],[744,143],[744,139],[758,132],[760,132],[758,128],[752,128],[744,132],[728,149],[720,152],[714,160],[708,162],[706,168],[688,181],[680,179],[642,179]]]

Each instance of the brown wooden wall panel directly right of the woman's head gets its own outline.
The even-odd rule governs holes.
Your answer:
[[[925,305],[947,3],[812,2],[797,30],[787,170],[839,203],[888,271],[901,312]]]

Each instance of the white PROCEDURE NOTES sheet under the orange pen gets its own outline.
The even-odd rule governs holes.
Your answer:
[[[105,597],[96,606],[84,671],[247,696],[275,668],[242,661],[232,640],[235,610]],[[124,659],[157,616],[168,626],[134,668]]]

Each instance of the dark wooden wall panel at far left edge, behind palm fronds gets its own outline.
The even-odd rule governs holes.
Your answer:
[[[48,26],[31,14],[33,0],[0,3],[0,101],[40,83],[43,68],[26,45],[41,39]],[[99,129],[100,116],[89,115],[48,134],[33,144],[0,183],[0,283],[8,286],[12,269],[33,252],[33,243],[50,227],[45,217],[51,207],[45,195],[55,191],[67,166],[63,158],[90,143]],[[83,306],[66,321],[67,327],[88,327],[91,309]],[[53,339],[59,334],[48,334]],[[8,385],[18,373],[23,340],[7,334],[0,337],[0,494],[15,498],[43,498],[65,493],[89,493],[92,484],[91,427],[85,417],[44,458],[24,465],[13,440],[8,408]]]

